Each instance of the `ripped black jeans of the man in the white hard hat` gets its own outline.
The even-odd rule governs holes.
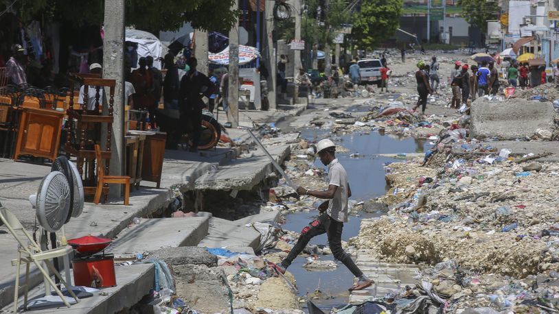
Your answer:
[[[356,277],[361,277],[363,272],[355,265],[351,256],[344,252],[341,247],[341,231],[343,229],[343,223],[335,221],[326,213],[321,214],[317,220],[312,221],[310,226],[307,226],[301,231],[301,236],[297,243],[291,249],[287,257],[282,261],[284,267],[289,267],[293,260],[303,251],[307,246],[310,239],[316,237],[319,234],[324,234],[328,236],[328,243],[330,243],[330,250],[334,254],[336,260],[341,261],[345,267],[350,269],[352,274]]]

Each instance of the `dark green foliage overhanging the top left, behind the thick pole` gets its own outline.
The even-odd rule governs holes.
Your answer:
[[[12,0],[0,0],[3,7]],[[111,0],[108,0],[111,1]],[[185,22],[201,29],[229,30],[239,11],[234,0],[125,0],[126,25],[152,32],[179,29]],[[102,23],[104,0],[19,0],[13,10],[29,21],[45,15],[52,21]]]

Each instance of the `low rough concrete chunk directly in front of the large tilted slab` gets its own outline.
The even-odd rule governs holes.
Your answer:
[[[206,265],[207,267],[216,267],[218,265],[218,257],[207,252],[203,247],[182,246],[182,247],[165,247],[150,252],[150,257],[165,261],[167,265]]]

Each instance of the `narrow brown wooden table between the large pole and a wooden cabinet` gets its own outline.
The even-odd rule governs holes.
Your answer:
[[[144,161],[145,134],[128,134],[124,136],[126,145],[124,157],[124,173],[130,177],[130,187],[139,189],[141,182],[142,162]]]

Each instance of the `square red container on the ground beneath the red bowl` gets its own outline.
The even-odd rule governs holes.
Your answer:
[[[73,282],[76,286],[108,288],[117,285],[113,254],[76,257],[72,260]]]

